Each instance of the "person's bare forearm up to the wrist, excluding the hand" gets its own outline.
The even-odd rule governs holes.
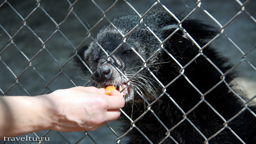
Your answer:
[[[48,129],[54,108],[40,96],[0,97],[0,139]]]

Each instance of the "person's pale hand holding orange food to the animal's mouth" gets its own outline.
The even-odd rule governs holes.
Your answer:
[[[53,106],[54,122],[49,129],[62,132],[96,130],[118,119],[119,108],[124,106],[124,98],[117,90],[107,96],[103,88],[95,87],[78,86],[38,97]]]

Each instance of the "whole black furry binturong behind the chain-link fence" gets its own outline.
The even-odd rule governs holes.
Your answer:
[[[128,144],[256,144],[256,106],[252,102],[244,104],[237,96],[246,100],[233,82],[234,71],[221,74],[232,65],[211,46],[199,51],[188,37],[189,34],[203,47],[218,34],[215,28],[191,19],[185,20],[181,28],[173,16],[160,8],[148,13],[135,29],[139,24],[136,14],[115,18],[112,24],[115,27],[104,26],[96,42],[78,54],[95,72],[95,86],[125,88],[123,110],[132,120],[147,111],[134,123],[141,132],[132,128],[126,135]],[[160,41],[166,38],[161,47]],[[106,59],[106,54],[114,50]],[[87,71],[80,60],[78,65]],[[186,67],[181,70],[181,66]],[[120,120],[124,132],[131,128],[128,118],[122,116]]]

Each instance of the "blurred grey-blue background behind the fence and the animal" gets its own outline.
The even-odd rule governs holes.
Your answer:
[[[94,1],[103,11],[106,11],[115,2],[114,0]],[[148,10],[156,2],[155,0],[127,1],[138,12]],[[36,0],[8,0],[7,2],[11,6],[5,3],[4,0],[0,0],[0,94],[6,94],[6,96],[36,96],[48,94],[57,89],[84,86],[86,81],[82,78],[84,76],[83,73],[74,65],[74,60],[68,60],[73,55],[74,48],[77,48],[80,44],[87,45],[91,41],[91,38],[86,39],[88,31],[85,26],[90,29],[102,18],[100,9],[91,0],[79,0],[74,4],[72,10],[80,18],[84,24],[83,26],[74,14],[70,14],[66,18],[69,12],[68,8],[70,7],[69,2],[73,4],[75,0],[70,0],[69,2],[66,0],[42,0],[40,1],[40,8],[37,8]],[[197,1],[160,0],[160,2],[169,10],[181,12],[186,16],[196,8]],[[244,3],[246,0],[240,0],[240,2]],[[160,6],[160,4],[157,6]],[[35,8],[37,9],[32,12]],[[52,34],[56,31],[56,24],[46,15],[42,8],[57,24],[64,21],[59,26],[60,31],[57,31],[53,36]],[[219,27],[203,10],[209,12],[224,26],[238,14],[241,10],[240,8],[241,6],[236,0],[203,0],[201,8],[197,8],[190,18],[198,18]],[[242,52],[246,53],[256,46],[256,1],[251,0],[244,8],[253,18],[250,18],[246,12],[241,12],[224,28],[224,34]],[[116,16],[128,13],[135,14],[130,6],[120,0],[106,13],[106,17],[111,20]],[[25,24],[32,31],[26,26],[21,28],[24,25],[22,24],[22,18],[25,19],[28,15],[30,16],[26,19]],[[98,30],[104,24],[108,24],[108,21],[105,19],[92,30],[92,37],[96,36]],[[11,42],[6,32],[10,37],[14,36]],[[50,36],[52,37],[48,40]],[[226,36],[220,36],[212,42],[212,45],[226,57],[230,58],[232,63],[237,64],[242,60],[243,54]],[[40,40],[42,42],[48,40],[44,49],[42,49],[42,42]],[[38,54],[39,51],[40,53]],[[243,61],[236,67],[240,76],[238,82],[248,91],[250,96],[256,94],[256,70],[253,68],[256,66],[255,56],[255,49],[246,56],[246,60],[252,66]],[[28,60],[31,58],[33,60],[28,64]],[[14,81],[14,75],[18,77],[18,81]],[[110,122],[108,124],[118,133],[118,125],[116,123]],[[36,134],[42,136],[46,132],[47,130],[36,132]],[[46,137],[50,137],[50,142],[44,143],[68,143],[60,134],[70,143],[75,143],[84,136],[83,132],[60,132],[58,134],[55,131],[50,131],[46,135]],[[116,143],[116,136],[106,126],[102,126],[93,132],[88,132],[88,134],[99,144]],[[121,136],[122,134],[118,133],[118,135]],[[34,137],[34,134],[28,134],[28,136]],[[2,143],[3,141],[0,142]],[[6,142],[6,144],[10,143],[16,142]],[[19,143],[22,142],[19,141]],[[86,136],[80,143],[91,144],[94,142],[90,140],[89,136]]]

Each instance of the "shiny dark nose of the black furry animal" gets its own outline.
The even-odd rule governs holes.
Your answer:
[[[109,66],[102,66],[96,70],[96,74],[94,75],[95,80],[103,81],[108,80],[112,76],[112,69]]]

